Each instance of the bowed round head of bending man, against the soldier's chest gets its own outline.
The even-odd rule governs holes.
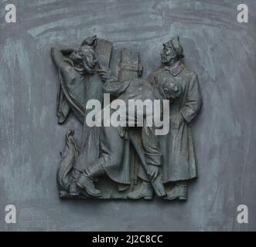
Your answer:
[[[167,100],[175,100],[182,93],[182,88],[179,83],[174,83],[172,80],[166,79],[161,85],[159,85],[159,90],[162,96]]]

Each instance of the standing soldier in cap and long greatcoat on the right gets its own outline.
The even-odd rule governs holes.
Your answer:
[[[162,181],[166,186],[166,199],[186,200],[187,181],[196,178],[196,154],[193,147],[193,137],[189,123],[196,117],[202,106],[200,85],[196,73],[187,69],[180,59],[183,58],[183,47],[179,37],[174,37],[163,44],[161,52],[162,68],[152,73],[148,80],[157,87],[163,80],[171,80],[182,88],[179,98],[170,105],[169,134],[162,137],[163,154]],[[130,193],[129,198],[142,198],[148,186],[143,172],[138,173],[142,178],[142,187]]]

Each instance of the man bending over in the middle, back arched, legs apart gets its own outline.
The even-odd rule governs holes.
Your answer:
[[[148,81],[141,79],[118,82],[117,78],[111,76],[111,73],[104,68],[99,69],[98,73],[101,79],[105,81],[103,92],[110,93],[115,99],[123,100],[127,105],[128,100],[175,100],[181,91],[178,84],[172,83],[169,80],[159,83],[157,87],[153,87]],[[114,110],[112,110],[113,112]],[[149,177],[148,180],[152,182],[155,194],[160,197],[166,195],[165,189],[161,186],[161,181],[155,184],[155,180],[159,178],[159,167],[162,166],[159,135],[155,135],[154,124],[152,127],[148,127],[145,124],[146,117],[148,117],[148,114],[153,114],[153,112],[146,112],[147,116],[144,116],[144,112],[136,111],[135,118],[133,118],[125,108],[124,112],[119,111],[118,114],[121,116],[121,119],[127,122],[124,126],[132,124],[135,127],[125,127],[125,130],[122,127],[102,127],[101,157],[85,169],[77,184],[80,188],[86,190],[89,195],[99,197],[101,196],[101,191],[94,187],[95,178],[106,173],[113,181],[124,183],[122,178],[125,176],[125,169],[121,167],[121,161],[125,151],[124,132],[127,131],[128,137],[131,139],[131,143],[134,145],[138,156],[142,158],[145,174]],[[142,127],[137,127],[140,120],[144,124],[141,124]],[[144,195],[144,198],[152,198],[152,195],[153,191],[148,193],[148,195]]]

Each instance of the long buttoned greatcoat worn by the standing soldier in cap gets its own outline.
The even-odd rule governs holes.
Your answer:
[[[170,105],[169,134],[162,136],[163,153],[162,181],[185,181],[196,178],[196,154],[193,146],[192,131],[189,126],[202,106],[200,85],[196,73],[187,69],[178,61],[173,66],[166,66],[149,76],[153,86],[166,78],[179,83],[183,92]],[[183,123],[177,126],[176,117],[181,114]]]

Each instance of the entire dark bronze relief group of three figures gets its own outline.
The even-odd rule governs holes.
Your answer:
[[[67,130],[57,172],[60,197],[152,199],[155,195],[186,200],[187,185],[197,176],[189,123],[200,111],[202,97],[196,73],[182,62],[179,37],[163,44],[162,68],[147,80],[139,79],[142,65],[138,52],[122,48],[118,58],[112,57],[112,46],[93,36],[84,39],[79,48],[51,49],[60,79],[58,123],[65,123],[70,113],[83,123],[80,145],[74,140],[74,131]],[[169,133],[155,135],[154,125],[89,127],[86,104],[92,99],[103,103],[104,93],[109,93],[111,100],[125,102],[170,100]],[[104,180],[113,186],[101,184]]]

